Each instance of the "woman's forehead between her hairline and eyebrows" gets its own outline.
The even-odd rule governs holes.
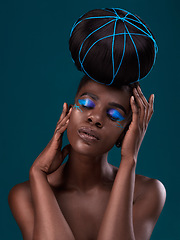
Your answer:
[[[77,98],[79,98],[83,93],[92,93],[98,97],[98,100],[106,104],[108,102],[115,102],[121,104],[127,112],[130,109],[130,91],[128,88],[112,88],[104,84],[97,83],[95,81],[88,81],[82,86]]]

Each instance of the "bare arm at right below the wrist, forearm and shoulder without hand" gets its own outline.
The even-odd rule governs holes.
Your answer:
[[[148,240],[163,209],[166,190],[150,179],[133,205],[135,167],[121,164],[100,227],[98,240]]]

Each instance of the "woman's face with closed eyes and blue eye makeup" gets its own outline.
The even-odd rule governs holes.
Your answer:
[[[89,81],[75,98],[67,127],[72,148],[81,154],[99,156],[108,152],[127,125],[130,93]]]

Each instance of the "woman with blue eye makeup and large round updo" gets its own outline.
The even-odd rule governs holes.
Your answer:
[[[154,94],[146,100],[139,80],[152,68],[157,47],[140,21],[125,10],[101,9],[75,23],[70,51],[86,75],[74,104],[64,103],[29,181],[9,193],[23,239],[150,239],[166,191],[159,180],[135,174],[154,102]],[[70,144],[61,150],[66,129]],[[121,147],[119,168],[107,161],[114,145]]]

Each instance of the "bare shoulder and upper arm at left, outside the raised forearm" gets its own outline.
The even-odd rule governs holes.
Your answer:
[[[23,239],[32,239],[34,210],[29,181],[16,184],[9,191],[8,203],[21,230]]]

